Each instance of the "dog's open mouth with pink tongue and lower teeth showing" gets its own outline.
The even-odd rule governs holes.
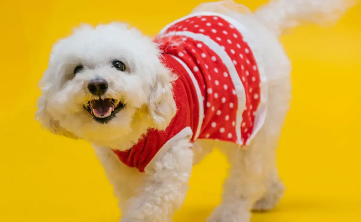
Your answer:
[[[88,101],[84,108],[94,117],[94,120],[100,123],[107,123],[115,117],[125,106],[124,103],[115,99],[99,99]]]

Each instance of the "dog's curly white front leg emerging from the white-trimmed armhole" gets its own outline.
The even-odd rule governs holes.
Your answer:
[[[193,152],[188,139],[175,142],[145,169],[144,186],[122,209],[121,222],[170,222],[186,196]]]

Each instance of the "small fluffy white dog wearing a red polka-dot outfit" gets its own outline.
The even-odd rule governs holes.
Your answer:
[[[208,222],[247,222],[283,194],[275,162],[291,97],[278,37],[300,22],[337,20],[352,2],[272,1],[254,13],[205,3],[155,39],[122,23],[82,26],[54,45],[37,117],[90,142],[122,222],[171,221],[192,165],[214,147],[231,168]]]

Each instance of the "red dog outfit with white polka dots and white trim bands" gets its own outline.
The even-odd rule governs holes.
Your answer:
[[[214,13],[193,14],[156,37],[162,62],[178,75],[177,113],[164,131],[149,129],[127,151],[113,151],[143,172],[178,139],[213,139],[244,146],[264,122],[265,89],[255,56],[237,21]],[[264,91],[261,93],[261,91]]]

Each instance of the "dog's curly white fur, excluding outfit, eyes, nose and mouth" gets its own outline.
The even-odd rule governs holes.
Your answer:
[[[54,134],[93,144],[114,186],[122,222],[171,221],[186,195],[192,165],[214,147],[226,154],[231,168],[222,203],[207,221],[247,222],[252,206],[254,210],[271,209],[283,195],[275,149],[290,103],[291,66],[278,36],[303,21],[337,19],[352,4],[344,0],[279,0],[255,13],[242,14],[235,3],[226,1],[202,4],[195,9],[194,12],[223,13],[242,23],[253,34],[258,47],[254,50],[262,55],[268,81],[268,111],[264,126],[247,149],[209,140],[191,144],[188,138],[182,138],[145,173],[123,165],[110,147],[126,150],[149,127],[164,129],[168,125],[176,111],[171,84],[176,77],[163,66],[152,39],[121,23],[82,26],[53,47],[41,81],[37,117]],[[247,10],[243,7],[242,11]],[[113,60],[123,61],[132,75],[119,75],[110,66]],[[82,75],[74,77],[78,64],[85,69]],[[126,104],[107,124],[94,121],[83,107],[94,99],[87,84],[95,77],[109,83],[103,98]],[[194,149],[190,149],[192,146]]]

